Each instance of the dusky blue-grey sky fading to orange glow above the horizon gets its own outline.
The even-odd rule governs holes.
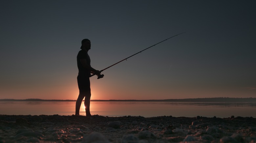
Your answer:
[[[0,99],[76,100],[91,40],[92,100],[256,98],[256,1],[2,0]]]

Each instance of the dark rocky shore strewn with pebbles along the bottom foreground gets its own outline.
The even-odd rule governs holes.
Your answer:
[[[252,117],[0,115],[0,143],[256,143]]]

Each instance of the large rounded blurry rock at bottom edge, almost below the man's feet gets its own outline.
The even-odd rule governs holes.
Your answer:
[[[93,132],[89,135],[84,135],[82,143],[110,143],[110,142],[102,134]]]

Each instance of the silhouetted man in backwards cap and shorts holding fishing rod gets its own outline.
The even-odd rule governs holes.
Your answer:
[[[79,95],[75,103],[75,115],[79,115],[79,110],[81,103],[84,99],[84,106],[86,116],[92,116],[90,113],[90,100],[91,100],[91,88],[90,88],[90,76],[91,73],[100,75],[100,71],[95,70],[91,67],[91,60],[88,55],[88,51],[91,49],[91,41],[88,39],[82,40],[82,46],[77,56],[77,67],[78,67],[78,76],[77,84],[79,88]]]

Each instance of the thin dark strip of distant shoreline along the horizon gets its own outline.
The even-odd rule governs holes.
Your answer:
[[[0,102],[75,102],[76,100],[0,99]],[[163,100],[91,100],[91,102],[256,102],[256,98],[187,98]]]

